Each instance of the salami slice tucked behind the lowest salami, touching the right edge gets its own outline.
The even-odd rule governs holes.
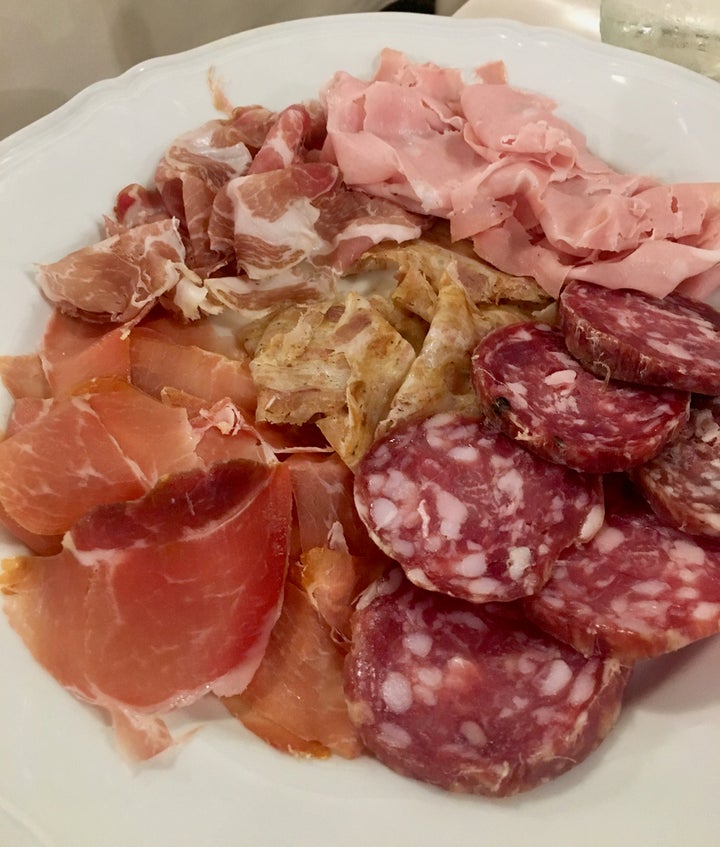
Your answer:
[[[598,534],[568,550],[526,614],[585,655],[659,656],[720,631],[720,548],[618,500]]]

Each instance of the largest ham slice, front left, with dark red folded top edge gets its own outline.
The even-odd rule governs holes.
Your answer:
[[[290,519],[281,465],[173,475],[90,512],[56,556],[26,560],[5,610],[36,660],[147,758],[171,743],[163,713],[237,694],[255,673],[280,612]]]

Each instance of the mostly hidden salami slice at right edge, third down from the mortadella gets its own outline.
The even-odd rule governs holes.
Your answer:
[[[663,523],[720,537],[720,399],[698,397],[679,437],[633,477]]]

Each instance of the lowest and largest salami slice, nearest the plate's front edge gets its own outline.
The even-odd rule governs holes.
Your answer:
[[[344,687],[379,761],[449,791],[506,797],[583,761],[614,726],[629,675],[547,636],[517,604],[466,603],[395,571],[361,598]]]

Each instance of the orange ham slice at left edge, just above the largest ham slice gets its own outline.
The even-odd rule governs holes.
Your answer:
[[[59,400],[0,442],[0,507],[31,533],[61,534],[95,506],[196,467],[199,438],[183,409],[127,385]]]

